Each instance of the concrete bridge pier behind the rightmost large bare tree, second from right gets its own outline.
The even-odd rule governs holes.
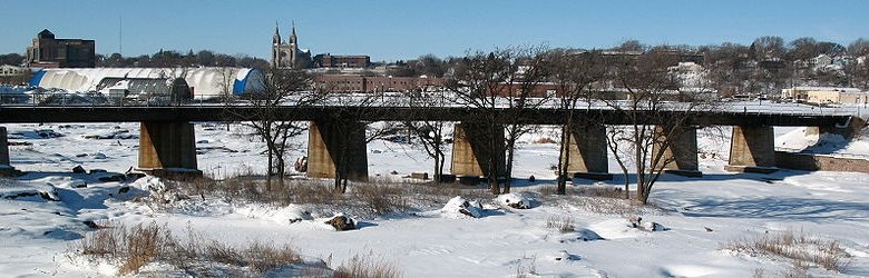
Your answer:
[[[670,132],[672,131],[672,132]],[[667,148],[662,150],[662,143],[652,145],[652,158],[657,157],[660,151],[664,153],[661,157],[664,172],[674,173],[684,177],[703,177],[697,161],[697,129],[694,127],[676,127],[665,129],[665,127],[655,127],[655,132],[670,132],[673,137],[663,138],[667,141]]]

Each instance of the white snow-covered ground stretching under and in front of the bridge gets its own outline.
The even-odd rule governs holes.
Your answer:
[[[0,276],[113,275],[116,268],[94,265],[70,252],[71,245],[92,231],[84,221],[106,219],[165,224],[178,232],[191,229],[231,245],[286,242],[304,256],[331,258],[333,266],[355,255],[369,256],[396,264],[404,277],[751,277],[759,272],[779,277],[793,271],[793,264],[724,246],[795,231],[836,240],[850,256],[840,272],[811,267],[811,275],[869,276],[869,175],[729,173],[723,171],[730,143],[726,128],[699,132],[704,177],[664,176],[647,208],[612,199],[539,193],[541,187],[554,183],[549,168],[558,155],[555,143],[533,143],[540,137],[557,138],[544,130],[519,145],[514,172],[518,196],[481,199],[480,218],[455,214],[448,208],[458,205],[445,201],[413,214],[350,215],[361,228],[339,232],[320,221],[290,221],[306,209],[305,203],[272,207],[192,198],[175,203],[179,209],[167,210],[133,200],[163,182],[152,177],[137,181],[99,178],[136,165],[138,123],[4,126],[13,145],[12,165],[28,173],[0,179]],[[813,145],[817,136],[807,139],[803,132],[777,128],[777,146]],[[263,143],[246,133],[235,125],[197,123],[199,169],[218,179],[263,172]],[[305,138],[293,142],[297,147],[289,155],[291,161],[304,156]],[[869,153],[867,140],[842,145],[836,151]],[[368,158],[372,176],[396,180],[432,168],[421,147],[412,145],[377,140],[369,145]],[[72,173],[79,165],[108,172]],[[617,169],[611,161],[611,172]],[[530,176],[535,182],[526,180]],[[622,182],[616,175],[614,181],[577,179],[570,187],[618,187]],[[518,197],[527,198],[531,208],[501,203]],[[636,217],[643,219],[641,228],[631,225]],[[573,231],[554,229],[554,221],[572,222]],[[651,222],[657,224],[655,231],[650,231]],[[170,274],[156,269],[144,275]]]

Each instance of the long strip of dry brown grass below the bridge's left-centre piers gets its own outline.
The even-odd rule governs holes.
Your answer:
[[[390,183],[383,180],[351,182],[346,193],[342,193],[334,190],[333,183],[329,180],[285,179],[282,181],[275,178],[268,185],[263,177],[237,177],[226,180],[201,179],[184,182],[192,182],[192,185],[164,181],[165,190],[152,192],[152,197],[139,200],[155,210],[167,209],[172,205],[172,201],[162,201],[163,199],[178,200],[184,199],[184,196],[191,196],[194,200],[219,198],[230,202],[309,205],[314,211],[341,210],[359,217],[378,217],[436,209],[459,195],[468,198],[491,198],[491,193],[484,187],[453,183]],[[163,198],[162,196],[175,197]]]

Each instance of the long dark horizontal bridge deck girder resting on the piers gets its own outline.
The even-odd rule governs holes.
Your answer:
[[[527,110],[496,109],[495,117],[485,111],[465,107],[296,107],[281,106],[270,111],[281,120],[318,120],[338,118],[360,121],[489,121],[518,120],[521,123],[559,125],[570,116],[575,119],[594,119],[607,125],[626,125],[632,116],[643,123],[662,123],[667,117],[684,116],[683,111],[617,111],[612,109],[557,109]],[[0,123],[3,122],[124,122],[124,121],[243,121],[263,117],[262,110],[250,106],[177,106],[177,107],[3,107],[0,106]],[[794,115],[785,112],[734,112],[729,110],[693,111],[686,119],[699,126],[832,126],[842,125],[850,116]]]

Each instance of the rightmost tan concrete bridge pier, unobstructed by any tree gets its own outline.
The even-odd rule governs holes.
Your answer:
[[[728,171],[770,173],[775,168],[772,126],[736,126],[730,143]]]

